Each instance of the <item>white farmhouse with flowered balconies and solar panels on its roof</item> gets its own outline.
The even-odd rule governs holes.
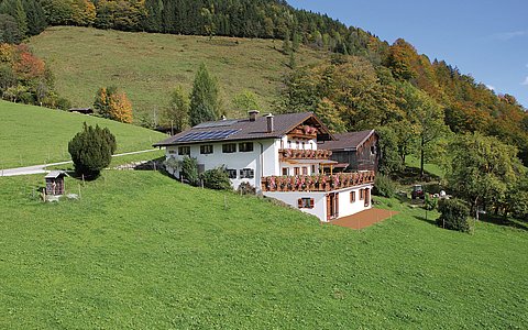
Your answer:
[[[199,172],[224,166],[233,188],[248,183],[321,221],[371,208],[374,172],[333,174],[338,162],[318,142],[336,139],[312,112],[257,114],[205,122],[154,146],[166,147],[167,158],[195,157]],[[180,176],[179,168],[169,170]]]

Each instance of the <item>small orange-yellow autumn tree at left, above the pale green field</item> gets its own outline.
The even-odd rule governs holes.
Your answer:
[[[125,123],[132,122],[132,102],[127,94],[116,86],[99,88],[94,108],[103,118]]]

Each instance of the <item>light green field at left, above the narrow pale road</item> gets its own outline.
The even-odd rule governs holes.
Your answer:
[[[85,121],[108,127],[117,138],[118,153],[150,148],[166,136],[101,118],[0,100],[0,168],[69,160],[68,141]]]

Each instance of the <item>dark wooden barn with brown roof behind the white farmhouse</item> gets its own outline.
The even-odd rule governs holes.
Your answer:
[[[324,141],[318,147],[332,151],[331,160],[345,166],[346,172],[377,172],[380,161],[377,134],[374,130],[333,134],[336,141]]]

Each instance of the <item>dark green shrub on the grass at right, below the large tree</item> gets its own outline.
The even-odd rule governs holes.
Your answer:
[[[439,227],[470,232],[471,224],[469,221],[470,208],[460,199],[444,199],[439,206],[440,218],[437,219]]]

